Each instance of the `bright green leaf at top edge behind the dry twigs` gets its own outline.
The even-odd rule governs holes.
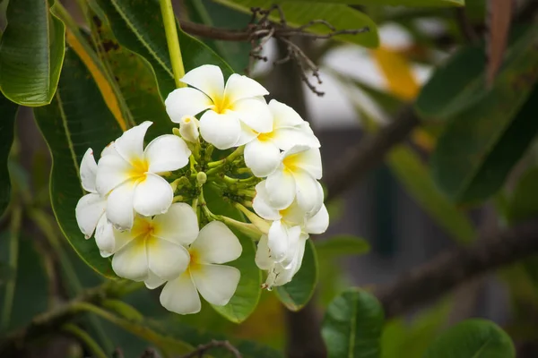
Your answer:
[[[252,7],[261,7],[269,9],[275,2],[273,0],[215,0],[218,3],[225,4],[231,8],[237,9],[243,13],[252,13]],[[309,21],[323,19],[329,22],[336,30],[359,30],[365,27],[369,28],[369,32],[360,33],[357,35],[339,35],[334,39],[345,42],[351,42],[363,47],[378,47],[379,36],[377,34],[377,26],[368,15],[360,13],[355,9],[345,4],[301,4],[300,2],[280,2],[282,12],[285,15],[289,25],[299,27],[307,24]],[[269,19],[280,22],[278,12],[273,11]],[[331,32],[325,25],[317,24],[308,27],[308,31],[317,34],[327,34]]]

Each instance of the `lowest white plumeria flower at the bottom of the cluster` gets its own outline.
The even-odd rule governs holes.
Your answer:
[[[208,303],[223,306],[230,302],[239,284],[238,268],[221,265],[241,256],[238,238],[219,221],[200,230],[188,249],[190,263],[181,276],[169,281],[161,292],[161,304],[179,314],[201,309],[199,294]]]

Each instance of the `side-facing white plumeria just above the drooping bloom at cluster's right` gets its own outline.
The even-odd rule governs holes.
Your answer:
[[[270,196],[264,182],[256,185],[256,197],[253,208],[260,217],[273,220],[267,232],[268,247],[273,262],[280,263],[284,268],[291,265],[301,234],[323,234],[329,226],[329,214],[322,204],[316,215],[310,217],[299,208],[297,200],[286,209],[271,207]]]

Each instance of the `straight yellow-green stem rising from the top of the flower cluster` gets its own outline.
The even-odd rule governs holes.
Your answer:
[[[169,47],[170,62],[174,71],[176,87],[185,87],[186,84],[180,81],[185,76],[185,68],[183,67],[183,59],[181,57],[181,50],[179,49],[178,28],[176,26],[176,15],[174,15],[172,2],[171,0],[159,0],[159,3],[161,4],[162,22]]]

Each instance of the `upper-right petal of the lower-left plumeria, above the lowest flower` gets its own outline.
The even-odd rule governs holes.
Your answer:
[[[166,214],[153,218],[153,235],[171,243],[189,245],[198,236],[195,210],[184,202],[170,205]]]

